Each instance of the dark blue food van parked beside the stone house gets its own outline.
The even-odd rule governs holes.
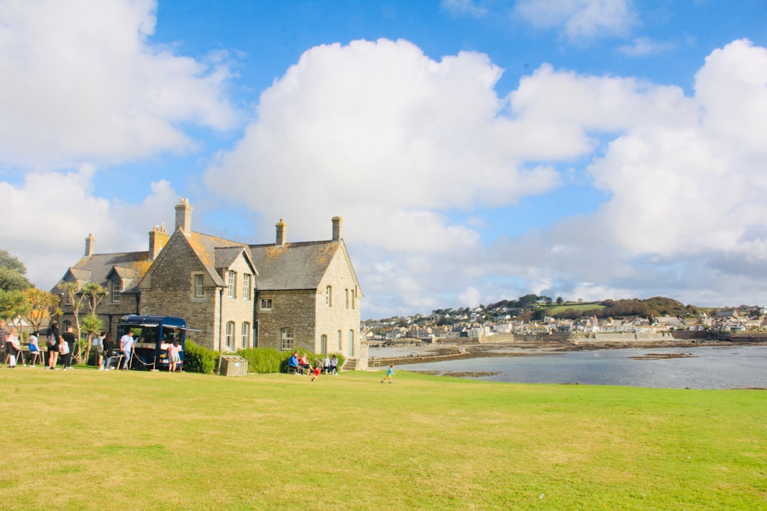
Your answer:
[[[190,329],[186,321],[173,316],[138,316],[129,314],[122,316],[117,323],[117,349],[120,349],[120,338],[133,330],[133,350],[135,355],[130,362],[131,369],[146,371],[165,370],[170,367],[168,346],[173,342],[179,343],[181,363],[176,365],[176,371],[183,370],[186,331]]]

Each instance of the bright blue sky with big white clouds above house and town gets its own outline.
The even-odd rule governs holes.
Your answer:
[[[364,317],[767,303],[767,4],[0,2],[2,248],[329,239]]]

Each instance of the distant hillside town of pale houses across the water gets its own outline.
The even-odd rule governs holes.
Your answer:
[[[369,342],[489,336],[547,335],[574,332],[658,333],[767,332],[767,307],[685,306],[670,298],[568,302],[526,295],[473,308],[436,309],[431,314],[367,319]]]

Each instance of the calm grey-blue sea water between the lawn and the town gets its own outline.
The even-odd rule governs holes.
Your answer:
[[[370,354],[378,356],[384,352]],[[647,355],[689,355],[644,358]],[[391,355],[389,355],[391,356]],[[638,357],[634,358],[634,357]],[[767,388],[767,346],[597,349],[400,365],[404,371],[490,372],[490,382],[570,383],[657,388]]]

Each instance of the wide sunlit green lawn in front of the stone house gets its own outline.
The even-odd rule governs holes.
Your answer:
[[[2,509],[767,509],[767,392],[0,369]]]

